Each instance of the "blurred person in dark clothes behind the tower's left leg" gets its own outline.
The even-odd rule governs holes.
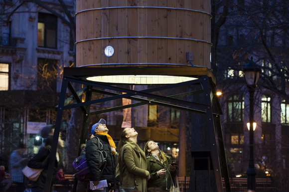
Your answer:
[[[48,136],[48,138],[45,140],[45,146],[41,147],[38,151],[38,153],[28,161],[27,166],[29,168],[33,169],[43,169],[36,181],[31,181],[31,192],[43,192],[47,171],[48,171],[48,164],[51,159],[50,150],[53,142],[53,136]],[[57,150],[64,147],[64,141],[61,139],[61,135],[59,135],[58,138],[58,145]],[[45,161],[45,159],[47,160]],[[52,182],[51,182],[51,188],[50,191],[53,191],[53,184],[55,182],[56,173],[57,173],[57,167],[58,167],[58,161],[59,156],[58,152],[56,153],[56,159],[54,162],[54,168],[53,168],[53,175],[52,175]]]

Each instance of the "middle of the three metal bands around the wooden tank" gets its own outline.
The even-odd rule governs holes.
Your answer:
[[[93,40],[102,40],[102,39],[141,39],[141,38],[146,38],[146,39],[178,39],[178,40],[190,40],[190,41],[198,41],[198,42],[203,42],[203,43],[208,43],[211,46],[213,45],[211,42],[200,40],[200,39],[189,39],[189,38],[179,38],[179,37],[100,37],[100,38],[93,38],[93,39],[84,39],[75,42],[75,45],[77,43],[85,42],[85,41],[93,41]]]

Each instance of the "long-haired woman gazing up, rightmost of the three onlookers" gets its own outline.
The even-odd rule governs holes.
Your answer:
[[[163,192],[170,191],[172,178],[176,177],[177,166],[172,162],[171,157],[161,151],[158,145],[149,140],[144,145],[144,152],[149,171],[150,180],[147,187],[157,187]]]

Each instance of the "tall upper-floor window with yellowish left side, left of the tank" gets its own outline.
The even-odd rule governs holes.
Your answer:
[[[57,17],[52,14],[38,13],[38,47],[57,48]]]

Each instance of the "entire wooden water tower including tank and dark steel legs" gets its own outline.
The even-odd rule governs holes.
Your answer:
[[[86,123],[90,115],[147,104],[199,113],[208,120],[206,128],[212,145],[208,153],[192,150],[192,157],[198,159],[205,154],[206,169],[210,173],[212,164],[218,192],[223,192],[221,162],[226,189],[230,191],[220,123],[222,112],[210,69],[210,11],[210,0],[76,0],[76,67],[64,68],[55,142],[66,109],[81,108]],[[83,84],[84,88],[75,90],[71,83]],[[116,84],[160,86],[136,91]],[[201,90],[175,95],[155,93],[195,85],[200,85]],[[65,100],[66,89],[73,97]],[[92,101],[95,92],[110,97]],[[85,101],[79,98],[83,93]],[[202,102],[183,99],[192,95],[198,95]],[[90,112],[91,104],[120,98],[137,103]],[[87,127],[84,123],[80,143],[85,141]],[[55,146],[52,154],[56,153]],[[49,166],[52,168],[52,163]]]

